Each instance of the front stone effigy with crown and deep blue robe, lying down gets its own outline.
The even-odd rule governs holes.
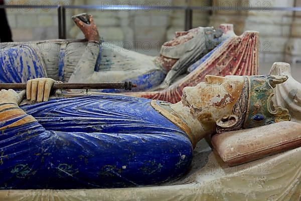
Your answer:
[[[22,95],[2,90],[0,188],[126,187],[176,179],[188,171],[193,148],[205,136],[288,121],[286,109],[267,107],[273,87],[286,79],[206,76],[185,88],[177,104],[77,94],[19,107]],[[27,98],[47,100],[54,82],[30,80]]]

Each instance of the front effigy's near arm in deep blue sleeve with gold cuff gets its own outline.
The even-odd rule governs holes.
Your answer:
[[[12,111],[0,125],[0,189],[156,184],[181,176],[192,160],[183,135],[48,131],[15,106],[5,116]]]

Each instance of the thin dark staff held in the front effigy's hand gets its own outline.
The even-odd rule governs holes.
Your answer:
[[[137,87],[137,84],[132,84],[130,81],[124,83],[54,83],[53,89],[125,89],[131,90]],[[26,89],[26,83],[5,83],[0,84],[0,89]]]

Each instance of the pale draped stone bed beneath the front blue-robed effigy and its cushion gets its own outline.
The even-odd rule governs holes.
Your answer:
[[[272,126],[272,125],[270,125]],[[254,129],[258,132],[264,129]],[[259,132],[258,132],[259,133]],[[205,140],[194,150],[192,168],[181,179],[163,185],[70,190],[0,190],[6,201],[62,200],[281,200],[301,196],[301,149],[229,167]]]

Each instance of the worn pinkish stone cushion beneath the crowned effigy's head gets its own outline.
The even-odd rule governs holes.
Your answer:
[[[212,145],[229,166],[239,165],[301,146],[301,124],[280,122],[225,132],[212,137]]]

